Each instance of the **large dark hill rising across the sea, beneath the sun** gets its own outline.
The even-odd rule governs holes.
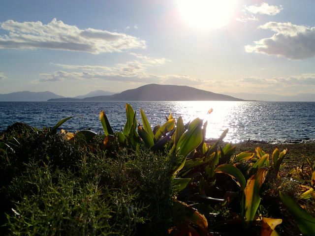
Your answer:
[[[64,101],[61,99],[50,99],[50,101]],[[214,93],[206,90],[195,89],[188,86],[157,85],[150,84],[137,89],[128,89],[121,93],[107,96],[94,96],[83,101],[243,101],[243,99]]]

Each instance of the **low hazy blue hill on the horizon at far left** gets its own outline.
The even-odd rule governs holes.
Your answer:
[[[22,92],[11,92],[0,94],[0,101],[47,101],[53,98],[63,98],[61,95],[57,95],[53,92],[45,91],[45,92],[30,92],[30,91],[22,91]]]

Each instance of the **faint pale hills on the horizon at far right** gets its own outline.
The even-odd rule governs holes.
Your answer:
[[[230,96],[236,96],[246,100],[261,100],[261,101],[280,101],[280,102],[315,102],[315,94],[299,93],[293,96],[283,96],[278,94],[252,94],[245,92],[226,92]]]

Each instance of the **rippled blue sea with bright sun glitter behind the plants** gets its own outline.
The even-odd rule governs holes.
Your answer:
[[[228,142],[251,140],[281,142],[312,142],[315,140],[315,102],[129,102],[141,122],[140,107],[152,126],[165,122],[172,112],[182,116],[184,123],[199,117],[208,120],[206,138],[218,138],[229,128]],[[0,130],[14,122],[35,127],[54,126],[60,119],[62,128],[75,131],[90,128],[102,130],[98,119],[104,110],[114,130],[124,128],[126,102],[0,102]],[[206,115],[213,108],[213,113]]]

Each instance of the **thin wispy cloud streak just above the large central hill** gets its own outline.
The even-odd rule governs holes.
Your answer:
[[[91,80],[102,79],[107,81],[132,82],[132,83],[162,83],[194,85],[202,81],[189,75],[156,75],[148,72],[150,66],[156,66],[168,61],[167,59],[155,59],[152,57],[134,54],[137,59],[118,63],[112,67],[101,65],[67,65],[53,64],[62,67],[53,73],[40,74],[40,78],[32,83],[56,82],[64,80]],[[71,71],[66,71],[71,70]],[[74,71],[73,71],[74,70]]]

